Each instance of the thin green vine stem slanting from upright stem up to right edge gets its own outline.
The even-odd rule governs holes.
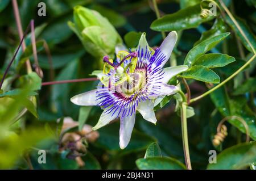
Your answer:
[[[220,84],[218,84],[217,86],[213,87],[213,89],[210,89],[207,92],[204,92],[204,94],[197,96],[196,98],[193,98],[190,100],[190,103],[195,102],[196,100],[199,100],[201,98],[204,98],[205,96],[209,95],[210,93],[212,93],[214,90],[220,88],[221,86],[223,86],[226,82],[230,81],[230,79],[234,78],[238,73],[240,73],[240,71],[242,71],[243,69],[246,68],[247,65],[249,65],[254,58],[256,57],[256,54],[254,54],[253,57],[250,58],[249,61],[247,61],[243,66],[241,66],[240,69],[238,69],[235,73],[233,73],[232,75],[230,75],[228,78],[226,78],[223,82],[221,82]]]

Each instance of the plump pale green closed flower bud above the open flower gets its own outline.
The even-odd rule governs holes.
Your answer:
[[[115,45],[122,44],[122,39],[108,19],[82,6],[74,7],[73,19],[74,22],[68,22],[68,25],[88,53],[99,60],[106,54],[114,57]]]

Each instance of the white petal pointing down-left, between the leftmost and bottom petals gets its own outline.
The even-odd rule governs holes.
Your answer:
[[[110,108],[106,108],[102,114],[100,119],[98,120],[98,123],[92,128],[93,130],[99,129],[101,127],[104,127],[106,124],[109,124],[110,121],[114,120],[117,118],[119,111],[115,111],[113,114],[112,112],[109,112]]]

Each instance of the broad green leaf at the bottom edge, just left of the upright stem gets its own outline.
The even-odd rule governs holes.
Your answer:
[[[137,159],[140,170],[184,170],[185,165],[171,157],[151,157]]]

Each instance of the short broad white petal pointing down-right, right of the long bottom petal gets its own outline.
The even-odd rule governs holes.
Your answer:
[[[152,100],[146,100],[144,102],[140,102],[137,111],[141,113],[143,118],[151,123],[156,124],[156,117],[154,112],[154,102]]]

